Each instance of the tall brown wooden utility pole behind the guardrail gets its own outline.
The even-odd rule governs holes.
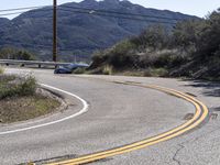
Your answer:
[[[53,10],[53,62],[57,61],[57,0],[54,0]]]

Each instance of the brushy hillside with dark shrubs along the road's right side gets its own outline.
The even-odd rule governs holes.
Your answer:
[[[92,55],[91,74],[220,79],[220,9],[206,19],[151,25]]]

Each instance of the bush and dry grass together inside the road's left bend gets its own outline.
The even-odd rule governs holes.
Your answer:
[[[33,119],[53,112],[59,101],[37,91],[34,77],[0,75],[0,123]]]

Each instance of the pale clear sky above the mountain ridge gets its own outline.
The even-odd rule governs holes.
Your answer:
[[[80,2],[81,0],[57,0],[58,4],[66,2]],[[144,6],[146,8],[154,8],[161,10],[172,10],[186,14],[197,15],[204,18],[218,8],[220,8],[220,0],[130,0],[133,3]],[[53,0],[1,0],[0,10],[50,6]],[[0,14],[3,14],[2,12]],[[12,19],[16,15],[8,16]]]

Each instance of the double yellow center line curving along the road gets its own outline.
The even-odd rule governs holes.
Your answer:
[[[138,87],[156,89],[156,90],[173,95],[175,97],[182,98],[195,106],[195,108],[196,108],[195,116],[191,120],[187,121],[186,123],[184,123],[173,130],[169,130],[165,133],[158,134],[156,136],[148,138],[146,140],[135,142],[132,144],[128,144],[125,146],[119,146],[117,148],[110,148],[110,150],[107,150],[103,152],[98,152],[95,154],[89,154],[89,155],[80,156],[78,158],[67,160],[67,161],[63,161],[63,162],[52,163],[48,165],[78,165],[78,164],[91,163],[91,162],[99,161],[102,158],[116,156],[119,154],[124,154],[124,153],[136,151],[140,148],[144,148],[146,146],[157,144],[157,143],[174,139],[176,136],[179,136],[179,135],[188,132],[189,130],[193,130],[196,127],[198,127],[208,117],[208,108],[199,100],[197,100],[194,97],[186,95],[184,92],[180,92],[180,91],[177,91],[174,89],[158,87],[158,86],[144,86],[144,85],[139,85],[139,84],[121,82],[121,81],[118,81],[118,82],[124,84],[124,85],[132,85],[132,86],[138,86]]]

